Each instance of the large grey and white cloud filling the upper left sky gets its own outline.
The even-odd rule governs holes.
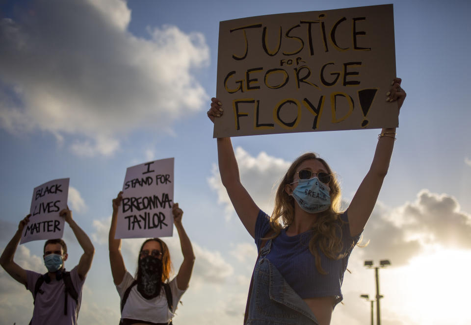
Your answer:
[[[25,6],[0,20],[0,125],[10,132],[75,136],[75,154],[110,155],[118,134],[171,132],[207,100],[190,72],[209,63],[203,34],[164,25],[134,36],[122,0]]]

